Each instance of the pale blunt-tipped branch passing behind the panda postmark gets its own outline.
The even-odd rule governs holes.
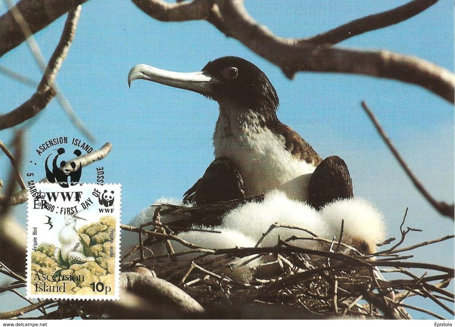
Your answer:
[[[79,167],[81,164],[82,167],[86,167],[89,164],[92,164],[96,161],[101,160],[102,158],[106,157],[106,155],[111,152],[112,144],[106,143],[100,149],[96,151],[92,151],[91,153],[84,154],[80,157],[76,157],[68,161],[68,164],[63,167],[62,169],[74,169],[71,167],[71,162],[76,163],[76,167]],[[48,182],[46,178],[43,178],[39,181],[39,183]],[[8,201],[8,198],[4,194],[0,194],[0,205],[4,205]],[[10,205],[17,205],[24,203],[27,201],[27,190],[21,190],[16,194],[12,195],[9,199]]]

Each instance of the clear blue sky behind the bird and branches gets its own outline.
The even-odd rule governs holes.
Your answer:
[[[275,34],[300,38],[406,2],[270,1],[261,6],[246,1],[246,6]],[[0,1],[0,13],[4,12],[6,6]],[[410,20],[353,37],[338,46],[418,56],[453,72],[453,17],[453,2],[440,0]],[[46,59],[60,38],[64,22],[65,17],[61,17],[35,35]],[[336,154],[344,158],[354,194],[383,211],[389,237],[399,236],[406,207],[409,214],[405,226],[424,230],[410,235],[406,245],[453,233],[453,223],[431,209],[414,189],[360,106],[361,100],[369,104],[430,193],[436,199],[453,202],[454,108],[450,103],[423,88],[373,77],[301,72],[290,81],[278,67],[207,22],[163,23],[130,1],[106,5],[105,1],[91,0],[82,7],[76,37],[57,82],[95,135],[92,146],[113,144],[108,157],[96,166],[105,168],[106,182],[122,184],[124,222],[155,199],[180,198],[202,176],[213,160],[211,138],[218,115],[216,102],[193,92],[146,81],[134,82],[129,89],[129,70],[146,63],[192,72],[226,55],[252,61],[267,74],[280,98],[278,117],[321,157]],[[1,57],[0,65],[36,81],[41,78],[25,43]],[[0,85],[2,112],[17,107],[34,92],[3,75]],[[82,138],[56,100],[27,126],[27,171],[36,171],[29,161],[40,141],[63,135]],[[11,130],[0,132],[5,143],[10,138]],[[9,164],[4,157],[0,156],[0,179],[5,180]],[[25,224],[25,206],[19,206],[15,215]],[[453,249],[453,241],[431,245],[415,251],[412,260],[453,266]]]

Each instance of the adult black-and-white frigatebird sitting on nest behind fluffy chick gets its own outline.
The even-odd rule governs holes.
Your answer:
[[[278,95],[267,76],[251,62],[227,56],[201,72],[169,72],[134,66],[136,79],[194,91],[219,103],[213,133],[215,160],[184,195],[196,204],[284,191],[290,199],[319,209],[334,199],[353,196],[346,164],[322,160],[298,133],[277,117]]]

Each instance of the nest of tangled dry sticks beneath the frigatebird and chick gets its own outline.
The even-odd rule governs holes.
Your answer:
[[[223,213],[248,200],[251,199],[195,207],[166,204],[157,206],[154,219],[139,228],[122,225],[122,229],[139,235],[138,245],[122,260],[123,269],[128,270],[136,263],[141,263],[155,271],[158,277],[179,286],[204,308],[212,311],[233,310],[233,307],[242,304],[244,310],[255,305],[270,308],[286,306],[300,310],[300,317],[307,319],[342,316],[410,319],[405,308],[411,308],[444,319],[435,312],[404,302],[407,297],[420,296],[429,298],[453,315],[451,307],[454,295],[444,288],[454,277],[454,269],[410,262],[407,260],[413,255],[401,253],[453,238],[454,235],[399,248],[410,231],[419,231],[409,227],[403,230],[406,215],[400,225],[401,239],[393,246],[389,244],[395,239],[385,241],[382,245],[389,245],[389,249],[369,256],[339,243],[339,240],[319,239],[326,244],[324,250],[293,246],[289,244],[293,238],[278,240],[276,246],[267,248],[206,249],[197,244],[188,244],[176,236],[178,232],[190,230],[196,222],[218,225]],[[179,219],[172,224],[162,225],[160,210],[162,214],[172,214]],[[277,224],[271,226],[271,229],[276,226]],[[170,240],[180,242],[188,249],[174,253]],[[156,242],[167,244],[169,253],[154,255],[151,246]],[[139,258],[131,260],[132,253],[136,253],[136,257],[139,254]],[[185,255],[195,253],[198,256],[192,262],[185,258]],[[267,264],[259,266],[253,272],[251,280],[234,281],[223,273],[233,260],[252,255],[253,259],[266,258],[264,261]],[[425,273],[417,276],[410,270],[413,268],[423,268]],[[382,273],[387,273],[386,276],[393,276],[393,279],[387,278],[385,281],[379,278],[379,269]],[[266,276],[264,273],[258,276],[261,271],[266,271]]]

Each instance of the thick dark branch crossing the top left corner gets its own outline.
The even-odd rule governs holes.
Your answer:
[[[84,2],[86,0],[20,0],[16,8],[24,17],[31,34],[35,34],[68,10]],[[10,10],[0,17],[0,57],[23,41],[25,35]]]

